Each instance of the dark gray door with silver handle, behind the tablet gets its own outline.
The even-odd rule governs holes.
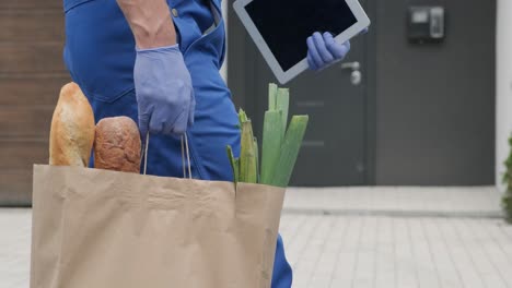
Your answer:
[[[230,62],[243,61],[243,65],[230,64],[229,84],[236,103],[251,113],[260,139],[263,116],[268,106],[268,83],[277,83],[277,80],[237,17],[232,16],[230,21],[230,35],[243,39],[243,43],[230,40],[230,53],[233,53]],[[344,62],[319,73],[306,72],[286,85],[291,95],[290,113],[309,115],[311,121],[295,166],[293,185],[365,183],[364,37],[352,41],[352,50]],[[245,47],[245,52],[240,51],[241,47]],[[232,75],[241,71],[247,74],[244,77]],[[244,99],[237,93],[244,94]]]

